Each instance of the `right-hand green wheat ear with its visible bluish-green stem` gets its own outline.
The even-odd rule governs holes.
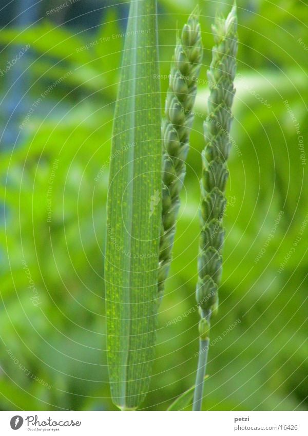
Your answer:
[[[208,349],[210,317],[217,311],[218,286],[222,270],[224,242],[222,219],[226,207],[226,160],[230,151],[231,107],[235,94],[237,16],[234,5],[226,20],[217,17],[213,26],[215,46],[207,72],[210,89],[208,116],[204,123],[205,148],[202,152],[201,236],[198,255],[196,299],[200,312],[200,353],[194,410],[201,409],[202,389]]]

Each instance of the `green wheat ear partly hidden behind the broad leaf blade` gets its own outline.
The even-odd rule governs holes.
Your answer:
[[[163,189],[162,230],[158,274],[158,300],[164,293],[171,252],[176,232],[176,219],[180,207],[180,192],[185,177],[185,160],[189,148],[189,134],[194,115],[192,107],[197,93],[197,82],[203,48],[199,23],[199,8],[189,16],[172,60],[169,88],[162,125]]]

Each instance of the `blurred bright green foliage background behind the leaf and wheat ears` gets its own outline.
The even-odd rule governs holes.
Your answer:
[[[50,13],[65,2],[41,2],[40,10],[32,2],[28,11],[26,3],[18,18],[16,9],[0,12],[0,408],[113,410],[103,252],[128,4],[80,0]],[[196,2],[158,3],[161,74],[168,74],[176,31]],[[197,367],[210,25],[215,11],[226,14],[231,2],[199,3],[203,68],[146,410],[165,410],[194,384]],[[298,0],[237,3],[239,75],[223,277],[203,407],[305,410],[308,6]],[[167,85],[162,79],[162,107]]]

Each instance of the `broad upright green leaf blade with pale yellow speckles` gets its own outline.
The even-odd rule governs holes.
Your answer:
[[[156,1],[131,2],[113,124],[107,355],[112,399],[122,409],[137,408],[148,390],[156,340],[162,166],[156,21]]]

